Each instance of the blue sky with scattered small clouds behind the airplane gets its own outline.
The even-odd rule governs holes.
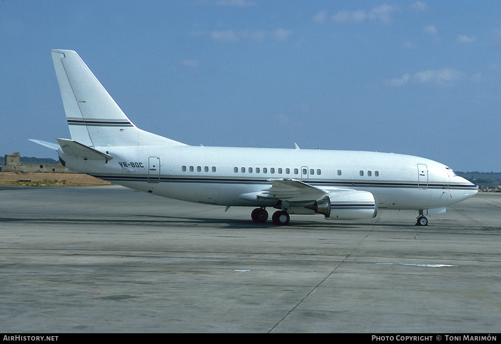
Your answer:
[[[139,128],[205,146],[501,171],[499,1],[0,1],[0,154],[69,138],[51,49]]]

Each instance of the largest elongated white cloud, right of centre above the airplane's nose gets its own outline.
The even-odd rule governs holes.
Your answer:
[[[415,74],[404,74],[400,78],[388,79],[383,82],[387,86],[404,86],[406,84],[431,84],[431,85],[449,85],[463,78],[463,73],[451,68],[439,70],[427,70]],[[478,79],[476,77],[475,79]]]

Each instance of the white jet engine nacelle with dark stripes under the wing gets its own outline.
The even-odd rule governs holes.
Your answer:
[[[306,208],[333,220],[365,220],[377,215],[374,195],[357,190],[330,193]]]

